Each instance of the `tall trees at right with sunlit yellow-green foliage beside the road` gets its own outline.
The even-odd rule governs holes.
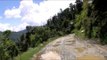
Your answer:
[[[106,0],[83,0],[82,11],[75,19],[75,33],[87,38],[98,38],[107,43],[107,4]]]

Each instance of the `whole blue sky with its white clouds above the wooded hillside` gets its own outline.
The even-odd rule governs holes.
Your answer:
[[[0,0],[0,31],[20,31],[46,24],[47,19],[75,0]]]

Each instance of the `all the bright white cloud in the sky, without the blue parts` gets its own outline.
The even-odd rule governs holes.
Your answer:
[[[43,25],[46,24],[47,19],[54,16],[60,9],[64,10],[69,7],[71,2],[75,0],[61,0],[61,1],[42,1],[40,4],[34,3],[32,0],[26,1],[22,0],[18,8],[13,7],[12,9],[5,10],[6,18],[21,18],[21,22],[15,31],[22,30],[26,25]],[[2,26],[2,24],[1,24]],[[4,27],[10,26],[10,24],[5,24]],[[7,27],[8,28],[8,27]],[[2,28],[1,30],[6,29]],[[9,28],[14,30],[14,26]]]

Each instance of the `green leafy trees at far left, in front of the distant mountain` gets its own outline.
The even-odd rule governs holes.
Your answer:
[[[13,60],[19,53],[16,43],[9,39],[10,33],[7,30],[0,34],[0,60]]]

